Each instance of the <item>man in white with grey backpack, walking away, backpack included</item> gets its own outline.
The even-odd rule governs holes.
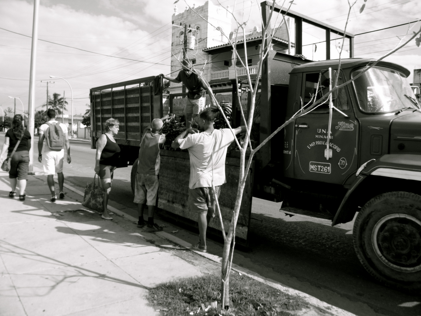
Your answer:
[[[72,161],[70,158],[70,143],[67,137],[67,126],[56,121],[56,111],[48,109],[48,122],[40,126],[40,139],[38,140],[38,161],[43,162],[44,174],[47,175],[48,187],[51,191],[51,202],[57,199],[54,188],[54,174],[57,173],[59,179],[60,198],[64,198],[63,192],[63,161],[64,147],[67,152],[67,163]],[[42,155],[44,139],[46,142],[44,150],[44,159]]]

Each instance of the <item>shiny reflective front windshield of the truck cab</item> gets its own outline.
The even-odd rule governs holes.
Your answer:
[[[363,68],[352,72],[355,77]],[[370,68],[353,82],[358,103],[364,112],[382,113],[403,108],[418,108],[408,80],[400,73],[383,67]]]

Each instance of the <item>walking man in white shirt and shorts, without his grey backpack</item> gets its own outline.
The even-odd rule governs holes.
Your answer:
[[[72,158],[70,158],[70,143],[69,143],[69,137],[67,136],[67,126],[63,123],[59,123],[56,121],[56,111],[53,109],[49,109],[47,111],[48,116],[48,123],[52,125],[51,128],[53,128],[54,124],[59,124],[61,130],[63,131],[63,137],[64,137],[64,145],[66,147],[67,152],[67,163],[70,163],[72,161]],[[48,135],[45,135],[44,133],[48,130],[50,127],[49,124],[44,123],[40,126],[40,139],[38,140],[38,161],[43,162],[44,166],[44,174],[47,175],[47,183],[48,187],[51,191],[51,202],[55,202],[57,199],[56,191],[54,188],[54,174],[57,173],[57,177],[59,180],[59,189],[60,189],[60,198],[64,198],[64,192],[63,192],[63,183],[64,183],[64,175],[63,175],[63,161],[64,161],[64,148],[61,150],[53,150],[48,146],[47,139]],[[43,155],[41,154],[43,151],[43,145],[44,145],[44,139],[46,141],[45,149],[44,149],[44,159]]]

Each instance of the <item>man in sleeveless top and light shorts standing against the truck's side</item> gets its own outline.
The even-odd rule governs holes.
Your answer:
[[[139,163],[137,165],[136,182],[134,189],[134,203],[137,203],[139,222],[137,227],[145,225],[143,210],[148,206],[147,228],[154,231],[162,231],[163,228],[154,223],[155,204],[158,195],[158,174],[160,166],[160,149],[165,143],[162,135],[163,121],[168,115],[159,119],[155,118],[143,131],[143,138],[139,148]]]

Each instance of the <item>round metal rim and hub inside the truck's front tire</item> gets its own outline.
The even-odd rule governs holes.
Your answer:
[[[406,214],[390,214],[373,228],[373,248],[379,259],[394,270],[421,270],[421,222]]]

